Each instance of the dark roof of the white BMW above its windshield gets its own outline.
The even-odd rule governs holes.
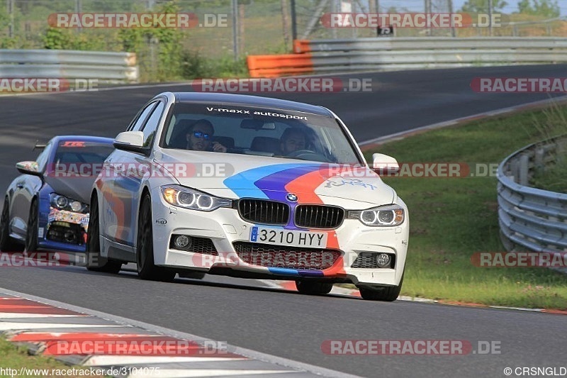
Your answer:
[[[264,107],[282,111],[301,111],[319,116],[334,118],[332,113],[322,107],[302,102],[272,99],[270,97],[249,96],[246,94],[203,93],[203,92],[175,92],[176,102],[183,103],[215,103],[232,106]]]

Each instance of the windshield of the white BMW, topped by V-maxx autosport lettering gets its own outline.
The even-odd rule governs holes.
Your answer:
[[[175,104],[162,148],[361,164],[334,118],[312,113],[218,104]]]

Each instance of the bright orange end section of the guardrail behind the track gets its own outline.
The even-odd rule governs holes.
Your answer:
[[[311,54],[249,55],[250,77],[279,77],[313,72]]]

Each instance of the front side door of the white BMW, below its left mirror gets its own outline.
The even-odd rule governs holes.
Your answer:
[[[141,130],[145,121],[157,106],[157,101],[152,101],[144,106],[134,117],[128,126],[130,130]],[[126,228],[126,216],[132,211],[132,191],[126,191],[129,187],[125,185],[122,177],[124,162],[132,159],[132,153],[123,150],[114,150],[104,163],[101,177],[97,179],[99,194],[101,194],[99,216],[101,217],[101,233],[108,240],[124,244],[128,240]],[[117,182],[119,184],[117,185]],[[117,192],[117,188],[120,189]]]

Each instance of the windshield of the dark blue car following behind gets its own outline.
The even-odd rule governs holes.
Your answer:
[[[57,145],[54,163],[102,163],[113,150],[113,145],[106,143],[62,140]]]

